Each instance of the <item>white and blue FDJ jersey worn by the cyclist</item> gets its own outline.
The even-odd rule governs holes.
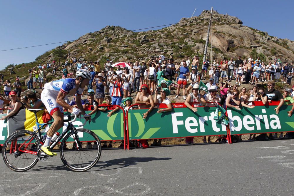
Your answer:
[[[69,91],[76,88],[76,79],[75,78],[65,78],[55,81],[48,82],[44,85],[44,89],[61,91],[61,93],[68,94]],[[83,89],[78,88],[76,91],[78,95],[83,93]]]

